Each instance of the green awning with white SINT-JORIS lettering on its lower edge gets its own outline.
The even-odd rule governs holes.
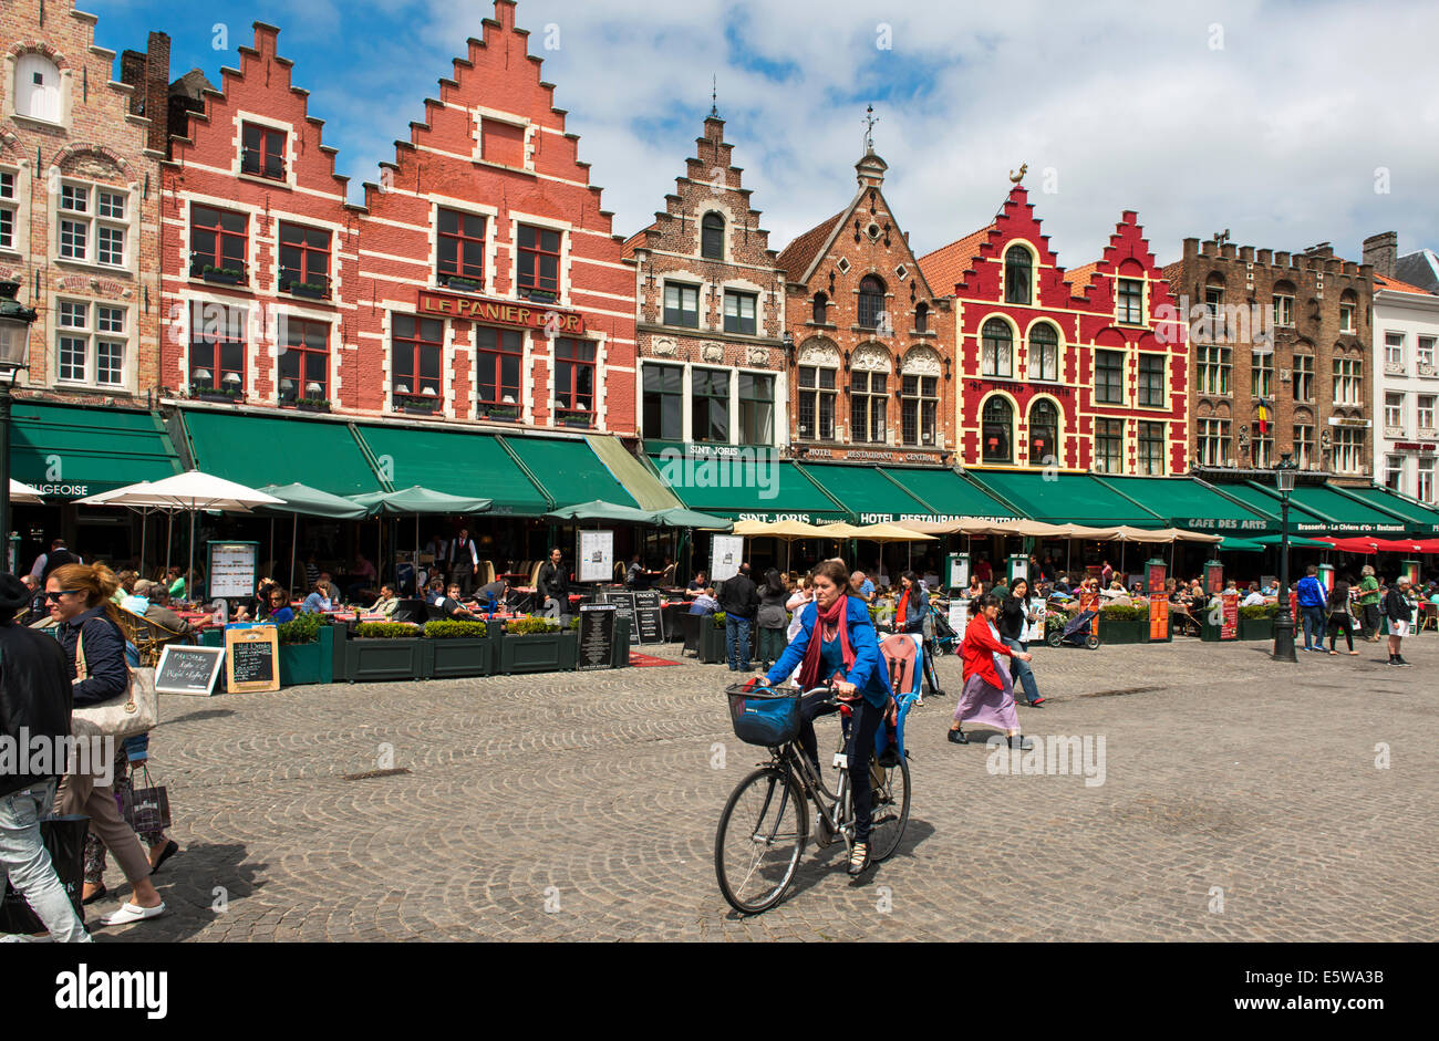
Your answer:
[[[848,520],[849,510],[825,495],[794,463],[751,456],[650,456],[661,480],[689,509],[731,520]]]

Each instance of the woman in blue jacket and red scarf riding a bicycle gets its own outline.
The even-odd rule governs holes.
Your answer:
[[[764,679],[771,684],[783,683],[799,666],[800,687],[830,683],[835,694],[853,702],[853,726],[846,749],[855,807],[849,873],[859,874],[869,867],[869,827],[873,818],[869,758],[875,752],[875,732],[881,720],[894,720],[896,705],[889,690],[889,673],[879,661],[879,641],[869,608],[859,597],[845,595],[849,571],[839,561],[825,561],[810,572],[810,584],[814,602],[799,613],[800,631]],[[800,745],[816,772],[819,740],[814,738],[814,716],[820,715],[829,697],[829,693],[812,694],[800,706]]]

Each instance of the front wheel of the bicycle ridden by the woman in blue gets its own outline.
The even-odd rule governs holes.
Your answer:
[[[809,837],[809,802],[787,769],[741,781],[715,833],[715,877],[730,906],[758,914],[784,899]]]

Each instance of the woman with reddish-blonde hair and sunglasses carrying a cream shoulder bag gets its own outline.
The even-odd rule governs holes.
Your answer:
[[[65,650],[73,682],[76,709],[108,702],[130,689],[125,634],[119,628],[119,608],[111,601],[118,587],[115,572],[104,564],[66,564],[52,571],[45,582],[50,617],[56,623],[55,637]],[[115,742],[112,769],[125,772],[128,766],[125,742]],[[157,917],[164,913],[165,904],[150,881],[150,857],[119,815],[115,774],[106,776],[102,763],[91,763],[91,768],[92,772],[88,774],[65,775],[55,795],[55,807],[60,817],[89,817],[91,833],[114,854],[130,880],[130,903],[102,917],[101,923],[128,925]]]

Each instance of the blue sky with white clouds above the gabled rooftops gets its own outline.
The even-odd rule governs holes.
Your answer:
[[[101,46],[144,49],[163,29],[173,75],[199,66],[216,85],[252,22],[279,26],[357,201],[494,12],[485,0],[81,7],[101,17]],[[1125,208],[1161,262],[1184,236],[1223,229],[1282,250],[1328,240],[1351,257],[1387,230],[1402,252],[1439,247],[1439,4],[1423,0],[521,0],[518,24],[623,234],[673,190],[715,76],[776,247],[848,201],[869,104],[886,196],[920,253],[986,224],[1020,162],[1066,267],[1095,259]]]

